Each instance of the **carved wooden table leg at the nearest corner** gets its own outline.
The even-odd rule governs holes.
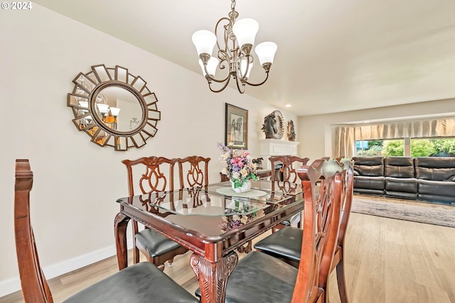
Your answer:
[[[224,303],[228,277],[237,265],[237,253],[231,252],[216,261],[209,261],[200,255],[191,255],[193,268],[200,286],[200,301],[203,303]]]

